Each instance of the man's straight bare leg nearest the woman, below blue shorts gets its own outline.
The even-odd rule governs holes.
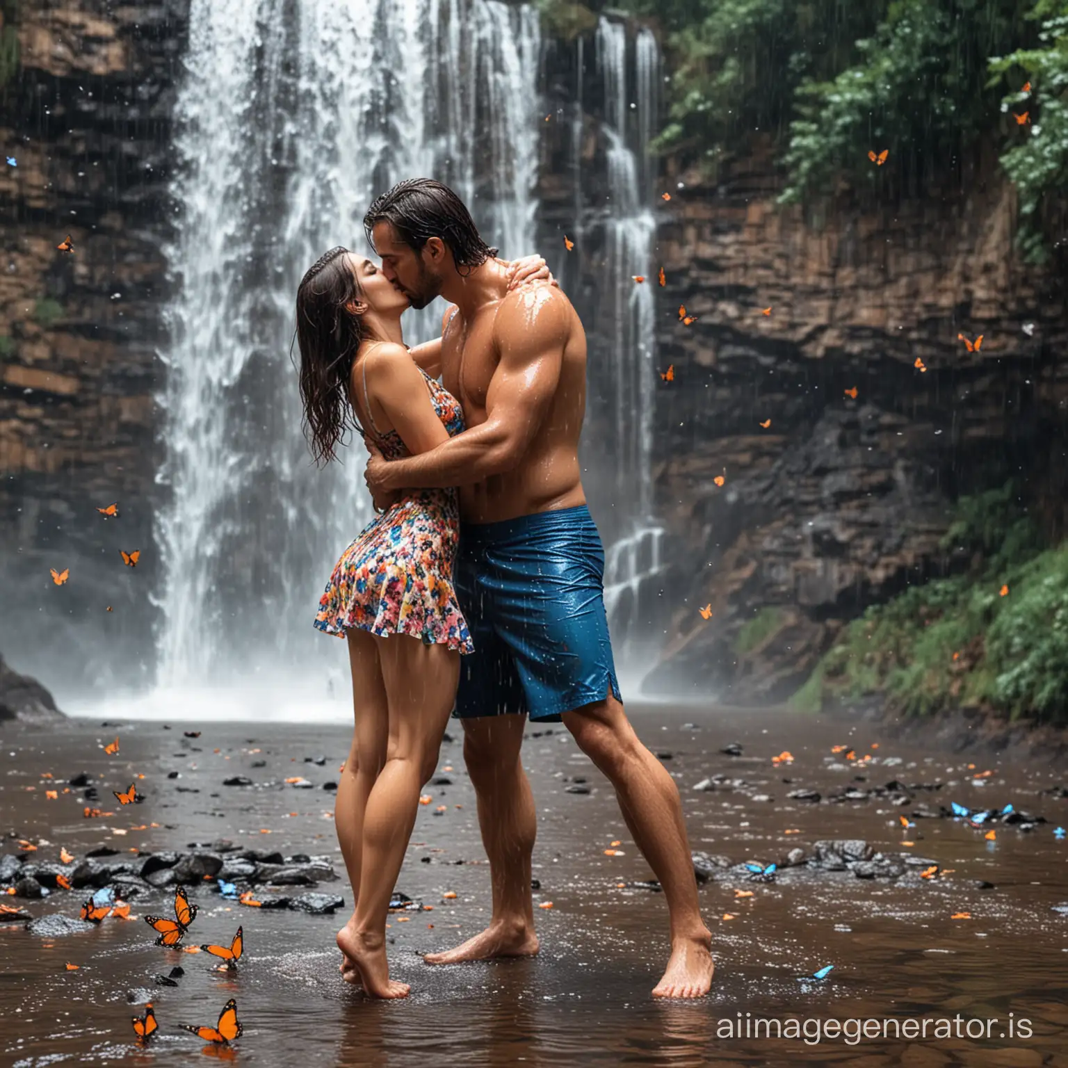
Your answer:
[[[525,716],[486,716],[464,721],[464,759],[478,799],[478,826],[489,857],[493,913],[489,926],[428,964],[456,964],[490,957],[529,957],[538,951],[531,900],[531,854],[537,818],[519,752]]]

